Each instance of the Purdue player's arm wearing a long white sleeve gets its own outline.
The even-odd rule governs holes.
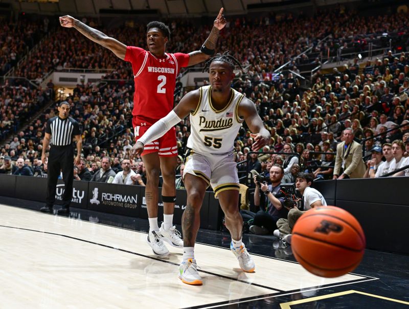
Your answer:
[[[135,143],[130,151],[130,159],[132,160],[144,150],[144,145],[165,135],[170,128],[178,124],[182,119],[186,118],[190,112],[194,112],[199,103],[200,92],[195,90],[184,96],[179,104],[164,118],[155,122],[141,138]]]

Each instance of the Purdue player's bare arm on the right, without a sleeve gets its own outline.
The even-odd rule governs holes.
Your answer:
[[[238,108],[239,116],[244,118],[248,128],[252,131],[250,135],[254,139],[252,150],[257,151],[264,147],[270,140],[270,133],[264,127],[263,121],[257,114],[256,106],[247,98],[241,100]]]

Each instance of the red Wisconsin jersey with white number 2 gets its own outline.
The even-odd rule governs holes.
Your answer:
[[[128,46],[125,60],[132,64],[135,81],[132,115],[146,125],[153,124],[173,109],[176,76],[188,66],[189,55],[165,53],[158,59],[149,51]]]

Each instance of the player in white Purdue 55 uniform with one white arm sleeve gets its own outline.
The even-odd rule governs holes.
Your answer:
[[[232,235],[230,248],[241,269],[245,272],[255,270],[253,258],[241,241],[243,220],[237,206],[239,180],[233,145],[243,121],[253,132],[253,151],[262,148],[269,141],[270,134],[264,128],[255,104],[231,89],[235,64],[240,66],[228,52],[211,58],[203,69],[209,68],[211,85],[184,96],[173,111],[152,125],[131,150],[131,157],[141,153],[145,144],[163,136],[190,114],[191,135],[187,144],[190,153],[183,173],[188,194],[182,217],[184,254],[179,267],[179,278],[187,284],[202,284],[194,258],[194,244],[200,226],[200,207],[209,185],[224,212],[226,227]]]

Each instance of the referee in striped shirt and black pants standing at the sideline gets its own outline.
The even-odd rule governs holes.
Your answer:
[[[70,104],[63,101],[58,107],[58,116],[49,119],[46,124],[46,134],[42,141],[42,162],[46,162],[46,151],[50,140],[51,148],[48,160],[47,199],[46,206],[40,209],[42,212],[53,212],[57,179],[62,170],[65,190],[62,195],[62,208],[57,213],[70,213],[70,202],[73,195],[74,163],[81,163],[82,140],[78,122],[69,117],[69,115]],[[73,137],[77,141],[77,157],[75,157],[75,160],[73,160]]]

